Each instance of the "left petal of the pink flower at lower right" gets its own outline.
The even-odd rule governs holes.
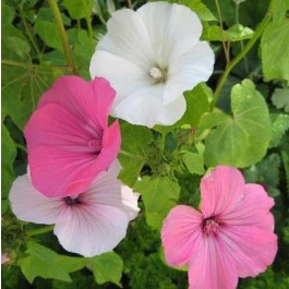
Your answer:
[[[182,266],[202,244],[202,216],[190,206],[176,206],[164,221],[161,241],[166,261]]]

